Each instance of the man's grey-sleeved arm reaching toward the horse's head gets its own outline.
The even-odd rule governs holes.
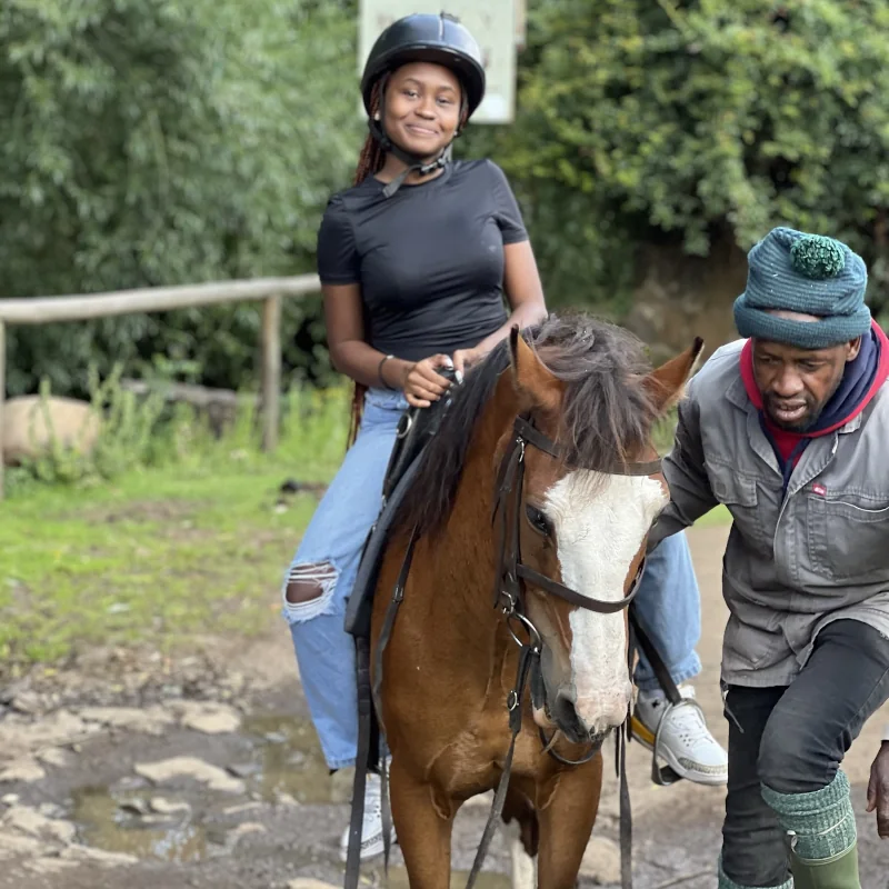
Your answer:
[[[695,397],[697,381],[698,378],[689,382],[686,397],[678,406],[679,422],[673,448],[663,458],[663,477],[670,488],[670,502],[649,532],[649,552],[665,537],[693,525],[719,503],[710,489],[710,480],[703,467],[700,406]]]

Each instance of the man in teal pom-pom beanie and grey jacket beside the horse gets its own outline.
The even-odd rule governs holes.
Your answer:
[[[720,889],[860,887],[840,763],[889,698],[889,340],[866,284],[846,244],[770,231],[735,303],[745,339],[689,383],[663,463],[650,547],[718,503],[733,518]]]

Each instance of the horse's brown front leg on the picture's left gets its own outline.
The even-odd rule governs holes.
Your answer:
[[[432,788],[400,769],[398,757],[392,759],[390,785],[392,822],[410,888],[449,889],[455,806],[449,800],[434,805]]]

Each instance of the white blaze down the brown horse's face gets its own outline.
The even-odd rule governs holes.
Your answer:
[[[578,470],[547,493],[562,582],[595,599],[617,601],[651,522],[667,503],[663,486],[648,477]],[[590,731],[620,725],[632,686],[625,656],[625,615],[571,612],[575,709]]]

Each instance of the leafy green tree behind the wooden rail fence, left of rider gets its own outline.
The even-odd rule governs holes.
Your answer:
[[[342,3],[4,0],[0,294],[312,271],[361,138],[353,60]],[[288,302],[290,368],[318,364],[296,341],[317,319],[317,300]],[[236,386],[258,324],[236,306],[19,328],[9,387],[82,392],[89,359],[132,370],[158,352]]]

